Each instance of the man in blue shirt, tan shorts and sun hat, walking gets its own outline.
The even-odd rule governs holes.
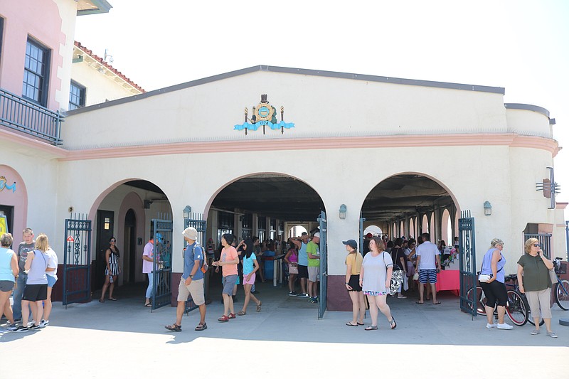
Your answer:
[[[176,322],[172,325],[166,325],[169,331],[182,331],[182,316],[186,310],[186,301],[188,296],[200,309],[200,323],[196,326],[196,331],[205,331],[208,329],[206,324],[206,299],[203,296],[203,247],[198,245],[198,231],[195,228],[186,228],[184,232],[184,240],[188,242],[188,246],[184,250],[184,273],[180,278],[178,286],[178,306],[176,307]]]

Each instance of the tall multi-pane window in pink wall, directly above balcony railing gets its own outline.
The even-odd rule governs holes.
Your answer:
[[[49,50],[28,38],[22,96],[44,107],[48,103]]]

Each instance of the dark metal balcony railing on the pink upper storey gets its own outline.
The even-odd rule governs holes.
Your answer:
[[[0,89],[0,125],[60,145],[63,115]]]

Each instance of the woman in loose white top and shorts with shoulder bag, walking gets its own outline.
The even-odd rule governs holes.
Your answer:
[[[397,327],[397,323],[387,305],[387,294],[393,273],[393,261],[391,255],[385,252],[383,240],[372,237],[369,242],[369,252],[363,257],[360,272],[360,285],[363,294],[368,297],[371,325],[366,331],[378,329],[378,310],[387,317],[391,329]]]

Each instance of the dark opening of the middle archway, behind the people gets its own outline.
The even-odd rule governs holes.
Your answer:
[[[250,174],[225,184],[206,206],[206,237],[213,238],[217,257],[223,233],[259,237],[260,247],[265,251],[260,259],[263,272],[257,275],[256,286],[265,286],[270,291],[288,291],[285,283],[285,288],[260,284],[260,276],[262,274],[271,284],[273,276],[280,280],[271,255],[286,252],[289,237],[299,237],[302,232],[316,233],[319,228],[317,218],[322,210],[324,202],[319,194],[299,178],[277,173]],[[283,270],[285,282],[286,269]],[[214,272],[210,280],[212,294],[218,292],[216,287],[220,283],[216,275],[219,274]],[[294,286],[295,291],[302,292],[298,281]],[[242,293],[243,289],[239,291]]]

